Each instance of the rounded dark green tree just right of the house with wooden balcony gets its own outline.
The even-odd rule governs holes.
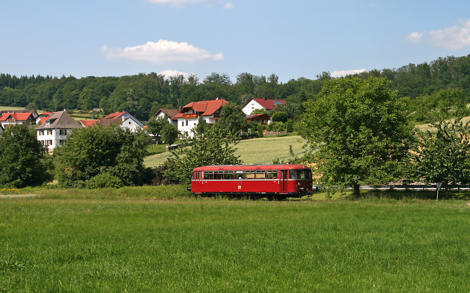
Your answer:
[[[246,130],[246,115],[240,107],[228,102],[222,107],[220,119],[215,123],[215,127],[221,134],[236,135]]]

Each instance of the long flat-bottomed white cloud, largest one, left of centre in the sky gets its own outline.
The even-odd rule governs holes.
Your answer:
[[[143,45],[133,47],[108,47],[104,45],[100,52],[107,59],[125,58],[136,61],[145,61],[154,64],[167,64],[174,62],[191,63],[201,60],[220,61],[223,54],[214,54],[207,50],[194,47],[186,42],[174,42],[168,40],[148,41]]]

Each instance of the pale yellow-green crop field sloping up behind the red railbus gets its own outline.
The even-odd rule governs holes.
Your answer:
[[[240,156],[243,164],[272,164],[276,159],[289,160],[289,146],[295,156],[301,157],[307,150],[302,148],[305,141],[300,136],[269,136],[239,141],[235,145],[236,156]],[[161,165],[170,156],[169,152],[148,156],[144,159],[146,167]]]

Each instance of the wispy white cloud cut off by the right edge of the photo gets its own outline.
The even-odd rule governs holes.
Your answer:
[[[458,24],[429,32],[413,32],[405,37],[411,42],[426,40],[437,47],[462,49],[470,46],[470,18]]]

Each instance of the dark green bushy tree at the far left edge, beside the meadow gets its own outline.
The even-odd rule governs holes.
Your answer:
[[[0,145],[0,186],[21,188],[52,181],[52,162],[44,157],[33,128],[7,127],[0,134]]]

